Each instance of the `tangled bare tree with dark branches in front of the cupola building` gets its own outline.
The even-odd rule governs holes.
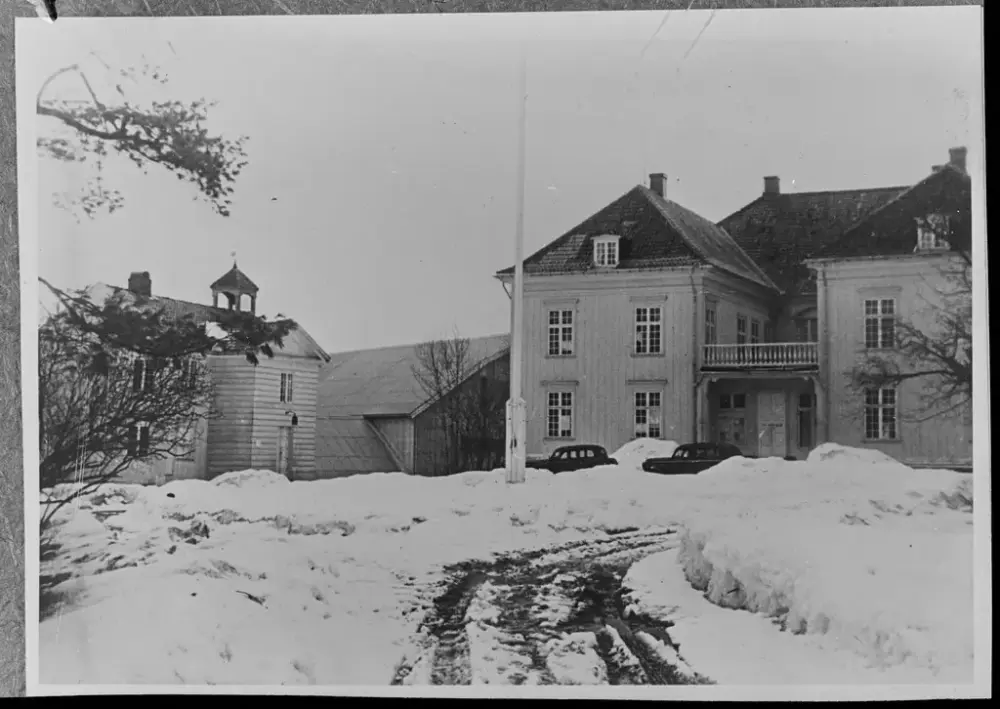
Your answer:
[[[124,293],[95,303],[40,280],[59,301],[39,327],[43,525],[136,463],[190,455],[199,426],[214,415],[205,358],[239,353],[255,365],[296,327],[219,311],[210,315],[220,332],[209,334],[195,314]]]

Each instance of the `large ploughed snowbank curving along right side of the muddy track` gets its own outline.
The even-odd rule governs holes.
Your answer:
[[[712,603],[832,639],[868,668],[971,681],[968,476],[824,446],[806,463],[731,459],[698,482],[717,494],[683,522],[678,561]]]

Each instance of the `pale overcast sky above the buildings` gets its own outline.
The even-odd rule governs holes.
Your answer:
[[[493,274],[514,255],[520,46],[531,253],[650,172],[712,220],[764,175],[783,191],[921,179],[970,141],[979,12],[18,21],[21,102],[61,67],[145,54],[171,95],[218,102],[213,130],[249,136],[228,218],[122,161],[106,179],[125,208],[77,223],[51,197],[84,173],[40,161],[39,271],[83,287],[148,270],[154,294],[207,302],[235,250],[258,311],[330,351],[505,332]]]

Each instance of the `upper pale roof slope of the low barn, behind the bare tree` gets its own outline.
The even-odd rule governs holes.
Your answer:
[[[482,362],[508,347],[507,335],[469,338],[469,358]],[[417,345],[331,355],[320,372],[317,416],[409,416],[427,401],[413,367]]]

